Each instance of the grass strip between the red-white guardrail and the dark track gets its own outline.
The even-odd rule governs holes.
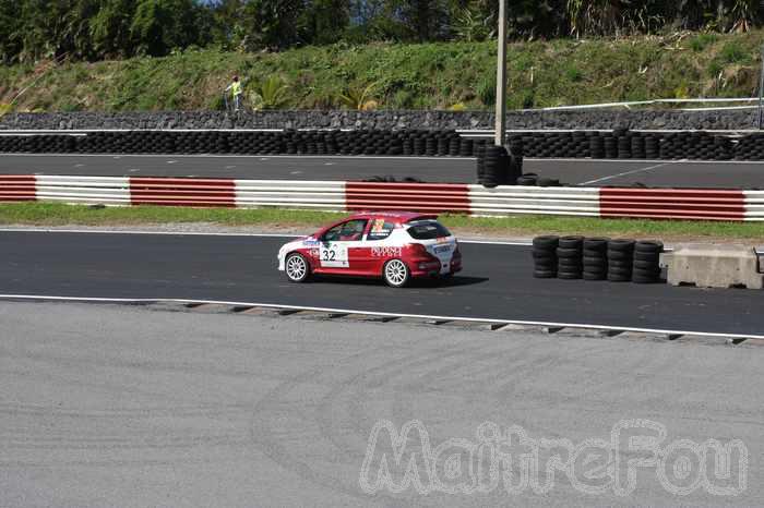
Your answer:
[[[89,207],[51,203],[0,205],[0,223],[27,226],[152,226],[207,223],[263,229],[313,229],[347,214],[278,208],[187,208],[163,206]],[[764,242],[764,222],[598,219],[588,217],[467,217],[441,216],[445,226],[463,235],[533,237],[584,234],[638,239]]]

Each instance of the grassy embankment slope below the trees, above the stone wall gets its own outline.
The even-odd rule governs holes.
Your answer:
[[[750,97],[764,29],[513,43],[508,51],[510,108],[675,97]],[[32,83],[28,65],[0,66],[0,102]],[[188,50],[165,58],[64,63],[25,93],[17,110],[219,109],[234,74],[246,96],[278,76],[284,109],[342,108],[341,95],[373,84],[381,109],[490,110],[496,43],[346,44],[279,53]],[[723,80],[719,78],[723,75]],[[249,88],[249,89],[247,89]]]

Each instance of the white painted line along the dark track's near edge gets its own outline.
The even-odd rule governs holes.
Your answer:
[[[219,300],[186,300],[186,299],[119,299],[119,298],[88,298],[88,297],[55,297],[44,294],[0,294],[2,300],[39,300],[39,301],[61,301],[61,302],[83,302],[83,303],[132,303],[132,304],[150,304],[150,303],[178,303],[178,304],[217,304],[231,306],[252,306],[264,309],[284,309],[290,311],[312,311],[312,312],[329,312],[337,314],[365,314],[369,316],[381,317],[410,317],[417,319],[430,320],[459,320],[467,323],[490,323],[498,325],[521,325],[521,326],[546,326],[558,328],[585,328],[594,330],[618,330],[618,331],[634,331],[640,334],[659,334],[659,335],[691,335],[696,337],[720,337],[729,339],[764,339],[764,335],[743,335],[743,334],[717,334],[709,331],[695,330],[671,330],[661,328],[635,328],[626,326],[608,326],[608,325],[590,325],[585,323],[557,323],[557,322],[540,322],[540,320],[517,320],[517,319],[492,319],[480,317],[458,317],[458,316],[438,316],[429,314],[403,314],[393,312],[375,312],[375,311],[359,311],[353,309],[332,309],[332,307],[314,307],[305,305],[279,305],[274,303],[256,303],[256,302],[229,302]]]

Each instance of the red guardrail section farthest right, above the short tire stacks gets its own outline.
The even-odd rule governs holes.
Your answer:
[[[600,189],[600,217],[743,220],[742,191],[701,189]]]

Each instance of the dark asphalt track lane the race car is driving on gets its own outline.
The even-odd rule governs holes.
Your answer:
[[[375,280],[287,282],[286,238],[0,232],[4,294],[187,299],[430,316],[762,335],[762,292],[539,280],[528,246],[463,244],[465,269],[443,286]]]

